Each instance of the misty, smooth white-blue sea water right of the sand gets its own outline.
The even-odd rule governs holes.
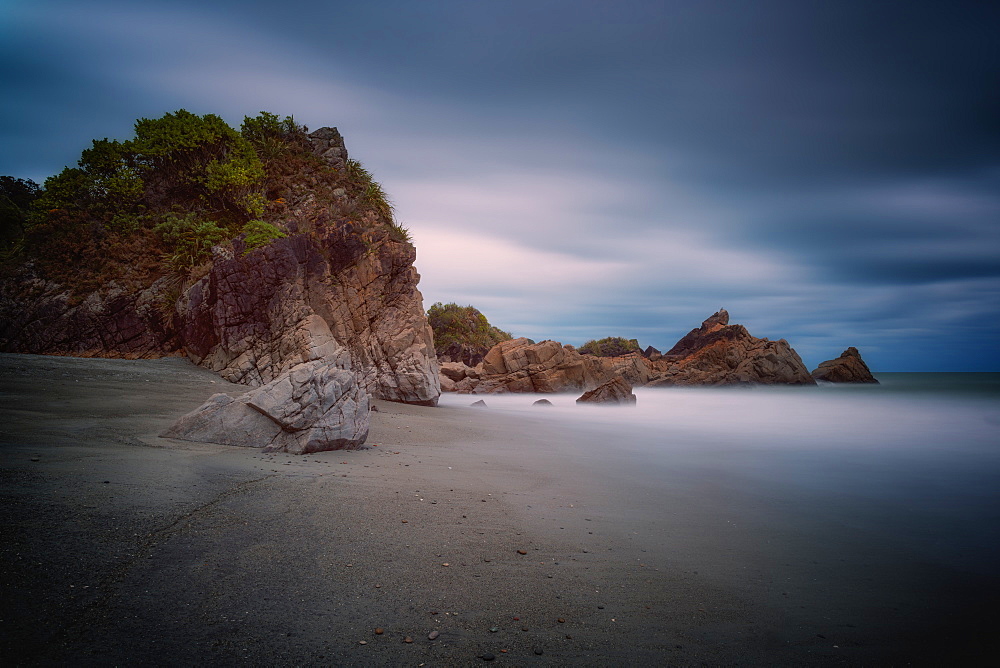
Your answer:
[[[441,404],[484,399],[551,435],[556,456],[611,490],[606,512],[644,550],[769,601],[787,642],[837,628],[879,656],[974,664],[1000,621],[1000,374],[877,377],[638,388],[634,407],[575,394]],[[553,406],[532,405],[543,396]]]

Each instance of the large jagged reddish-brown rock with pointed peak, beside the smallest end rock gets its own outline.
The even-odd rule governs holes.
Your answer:
[[[752,336],[730,325],[722,309],[688,332],[655,362],[648,385],[815,385],[798,353],[784,339]]]

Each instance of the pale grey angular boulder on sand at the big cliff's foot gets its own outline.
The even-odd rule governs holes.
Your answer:
[[[233,398],[216,394],[161,434],[165,438],[306,454],[350,450],[368,437],[368,394],[346,355],[293,367]]]

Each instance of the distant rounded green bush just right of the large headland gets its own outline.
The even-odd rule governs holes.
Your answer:
[[[434,350],[441,359],[463,361],[475,366],[489,349],[511,339],[511,335],[491,325],[478,309],[455,303],[437,302],[427,310],[427,322],[434,331]]]

